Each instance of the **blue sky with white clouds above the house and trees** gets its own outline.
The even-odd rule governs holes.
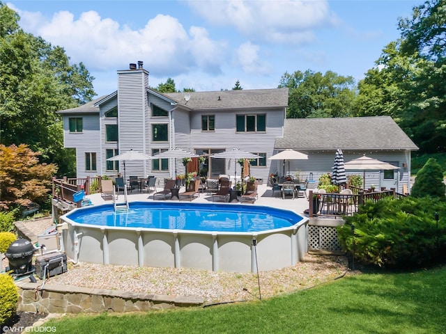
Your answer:
[[[98,95],[144,61],[149,84],[197,91],[277,88],[285,72],[330,70],[357,81],[424,1],[4,1],[24,31],[84,63]]]

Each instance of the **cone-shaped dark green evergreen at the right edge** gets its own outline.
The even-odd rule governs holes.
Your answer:
[[[436,159],[429,158],[423,168],[418,171],[410,196],[417,198],[424,196],[445,198],[445,191],[443,170]]]

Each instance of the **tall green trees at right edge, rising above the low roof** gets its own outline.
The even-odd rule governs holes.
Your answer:
[[[392,116],[420,147],[446,152],[446,1],[426,1],[399,20],[401,38],[383,49],[359,84],[355,116]]]

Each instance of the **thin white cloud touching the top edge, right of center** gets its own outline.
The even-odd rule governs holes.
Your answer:
[[[233,26],[251,40],[302,44],[314,29],[338,23],[328,1],[189,1],[210,24]]]

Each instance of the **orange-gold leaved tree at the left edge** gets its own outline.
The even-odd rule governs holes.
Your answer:
[[[0,145],[0,210],[47,200],[57,167],[39,164],[39,155],[24,144]]]

